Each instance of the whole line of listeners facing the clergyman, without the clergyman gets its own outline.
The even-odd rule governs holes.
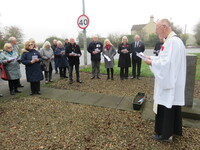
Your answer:
[[[60,78],[69,78],[69,84],[73,81],[73,68],[76,70],[76,81],[82,83],[79,74],[79,65],[82,53],[74,38],[66,39],[63,45],[61,41],[53,40],[53,44],[49,41],[44,42],[42,48],[39,50],[35,41],[30,39],[25,42],[24,49],[20,55],[20,50],[17,46],[15,37],[10,38],[10,43],[4,45],[4,51],[0,54],[0,63],[5,66],[9,76],[9,90],[10,94],[21,93],[18,87],[23,87],[20,84],[21,72],[20,63],[25,65],[26,78],[30,82],[31,95],[40,94],[40,81],[45,77],[45,83],[52,82],[52,72],[59,74]],[[14,41],[14,42],[13,42]],[[11,44],[14,43],[14,44]],[[110,42],[106,39],[102,44],[98,36],[93,37],[93,41],[89,43],[88,52],[91,54],[92,76],[100,79],[100,61],[101,55],[104,57],[105,68],[107,69],[107,79],[114,80],[114,56],[117,51]],[[140,41],[139,35],[135,36],[135,42],[128,44],[128,38],[124,36],[122,43],[118,47],[120,67],[120,78],[128,79],[128,69],[131,67],[130,54],[132,53],[132,79],[139,79],[141,69],[141,59],[136,56],[136,52],[144,52],[144,43]],[[102,54],[101,54],[102,53]],[[137,74],[136,74],[137,67]],[[43,73],[44,71],[44,77]],[[67,76],[69,72],[69,77]]]

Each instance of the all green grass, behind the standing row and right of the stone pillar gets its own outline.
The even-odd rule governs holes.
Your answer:
[[[197,55],[197,57],[198,57],[195,79],[196,80],[200,80],[200,53],[195,53],[194,55]],[[92,72],[92,67],[89,66],[87,68],[82,68],[80,71],[82,71],[82,72]],[[104,63],[101,63],[100,72],[102,74],[106,74],[107,73],[106,69],[104,67]],[[118,60],[115,60],[114,74],[115,75],[119,75],[120,74],[120,68],[118,67]],[[132,75],[132,67],[129,68],[129,76],[131,76],[131,75]],[[146,65],[144,62],[142,62],[141,76],[142,77],[153,77],[153,74],[150,71],[149,66]]]

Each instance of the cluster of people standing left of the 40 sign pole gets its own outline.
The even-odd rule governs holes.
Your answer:
[[[15,44],[17,43],[16,38],[11,37],[10,39],[15,41]],[[51,47],[50,42],[46,41],[39,50],[35,41],[30,39],[25,42],[24,49],[22,49],[22,54],[20,55],[17,44],[6,43],[4,45],[4,50],[0,54],[0,64],[3,65],[8,76],[7,80],[11,95],[21,93],[18,87],[23,87],[20,84],[20,63],[25,65],[26,79],[30,82],[30,95],[40,94],[40,81],[44,79],[42,71],[44,71],[45,83],[53,81],[52,71],[55,66],[59,68],[61,78],[68,78],[66,69],[69,70],[70,84],[73,83],[72,72],[73,66],[75,66],[77,82],[82,83],[79,79],[79,57],[81,56],[81,51],[74,39],[70,39],[68,46],[63,47],[61,41],[56,41],[55,49],[53,49],[53,46]]]

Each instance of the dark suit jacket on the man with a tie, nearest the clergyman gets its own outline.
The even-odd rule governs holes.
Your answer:
[[[135,42],[131,43],[132,60],[141,59],[140,57],[136,55],[136,52],[140,53],[140,52],[144,52],[144,50],[145,50],[145,46],[143,42],[139,41],[138,47],[135,47]]]

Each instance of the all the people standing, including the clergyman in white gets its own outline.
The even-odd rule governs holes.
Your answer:
[[[146,56],[145,63],[150,66],[155,76],[154,87],[154,112],[155,135],[157,141],[170,141],[173,135],[182,135],[181,106],[185,105],[185,81],[186,81],[186,50],[183,42],[172,31],[169,20],[162,19],[156,24],[156,33],[160,41],[155,47],[156,56]],[[64,46],[61,41],[53,41],[53,45],[46,41],[42,50],[37,50],[34,40],[25,43],[23,53],[20,56],[16,39],[11,37],[10,43],[4,45],[4,51],[0,54],[0,64],[5,66],[8,74],[8,85],[10,94],[20,93],[20,63],[25,65],[27,81],[31,85],[31,95],[40,94],[40,81],[43,80],[42,65],[45,66],[46,83],[52,81],[52,70],[54,66],[59,68],[61,78],[67,78],[66,70],[69,70],[69,83],[73,83],[73,67],[76,70],[76,80],[82,83],[79,75],[79,57],[81,50],[73,38]],[[114,56],[116,50],[112,43],[106,39],[102,44],[97,36],[88,46],[91,54],[92,76],[100,79],[101,53],[104,57],[107,79],[114,79]],[[160,50],[159,52],[157,50]],[[141,58],[136,53],[144,52],[145,45],[140,41],[139,35],[135,35],[134,42],[129,44],[126,36],[122,37],[119,44],[118,67],[120,67],[120,78],[128,79],[129,67],[131,67],[130,54],[132,53],[132,79],[140,79]],[[158,55],[159,54],[159,55]],[[54,65],[55,63],[55,65]],[[57,70],[56,70],[57,71]],[[2,95],[0,95],[2,96]]]

